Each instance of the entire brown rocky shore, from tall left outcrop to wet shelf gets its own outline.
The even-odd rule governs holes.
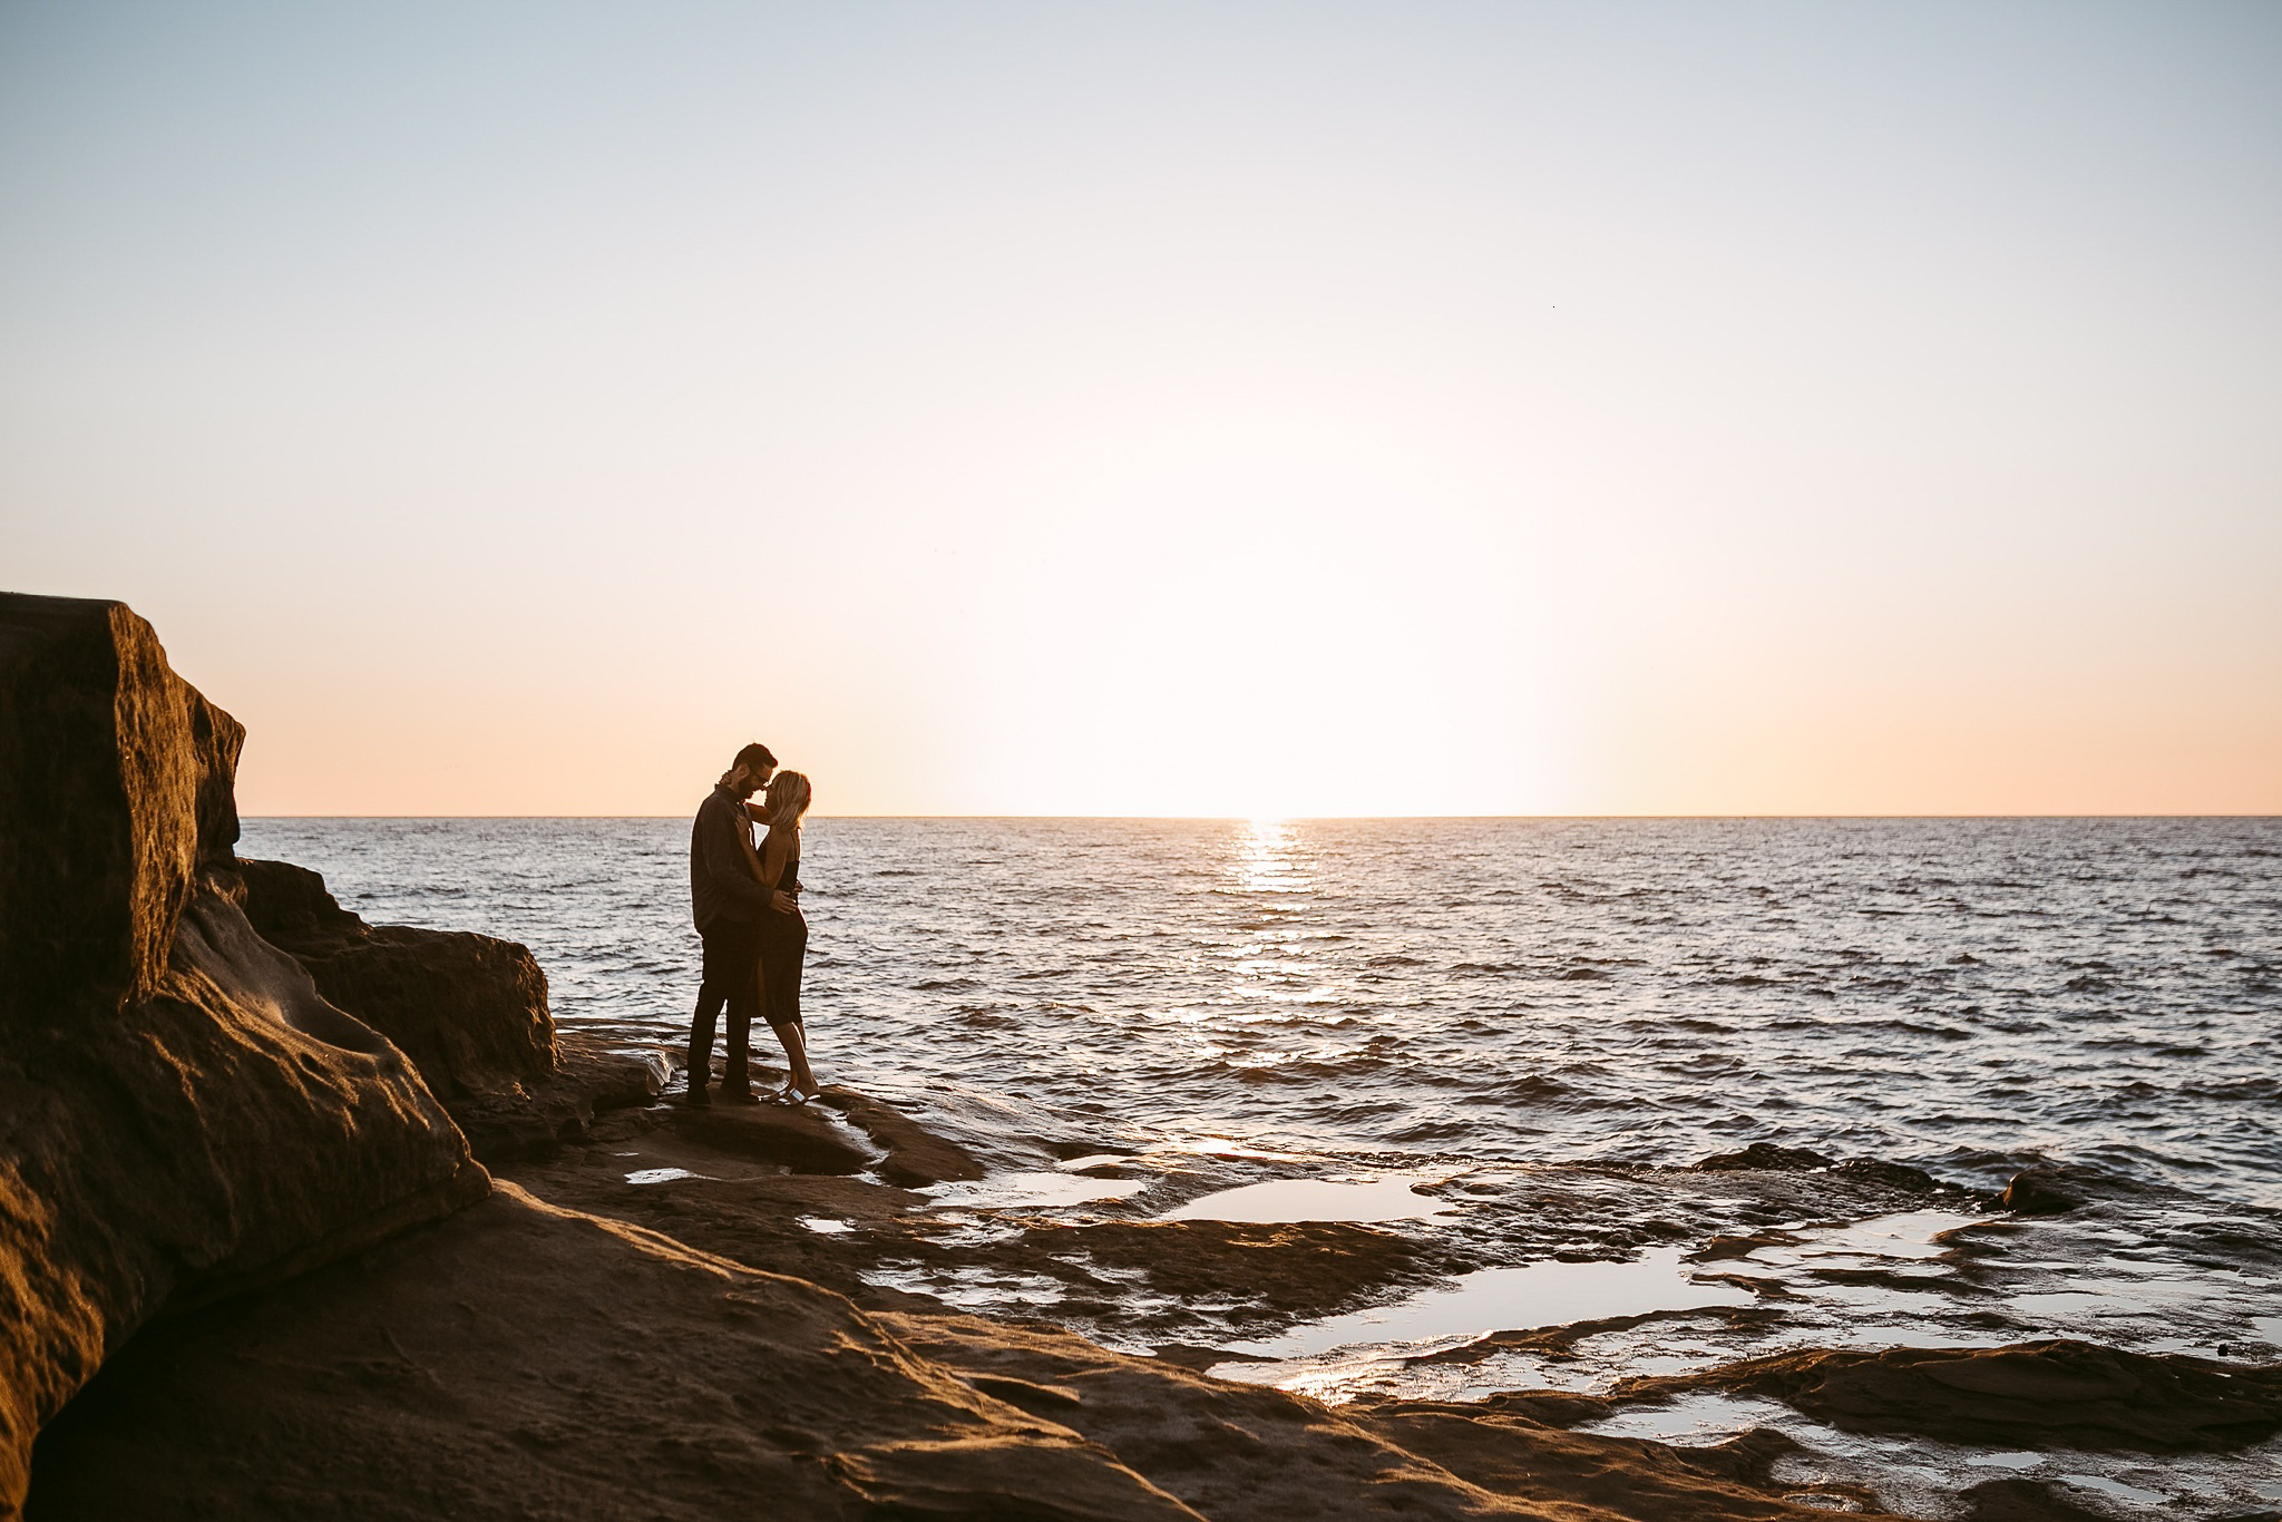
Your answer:
[[[2047,1449],[2234,1451],[2282,1431],[2277,1369],[2052,1339],[1819,1349],[1479,1403],[1333,1408],[1219,1381],[1200,1369],[1232,1355],[1203,1339],[1237,1321],[1287,1326],[1513,1257],[1696,1241],[1693,1262],[1737,1266],[1832,1212],[1988,1196],[1759,1143],[1670,1171],[1513,1164],[1504,1193],[1438,1187],[1467,1209],[1424,1239],[1166,1221],[1162,1196],[1120,1219],[936,1214],[958,1191],[922,1189],[1111,1148],[1029,1136],[1000,1155],[988,1127],[942,1136],[837,1086],[806,1109],[653,1104],[666,1063],[555,1031],[520,945],[370,926],[317,874],[235,858],[242,730],[121,605],[0,598],[0,1517],[30,1495],[52,1522],[1782,1522],[1876,1495],[1778,1485],[1805,1449],[1773,1431],[1686,1449],[1568,1428],[1739,1390],[1846,1431]],[[518,1177],[493,1189],[479,1159]],[[1273,1166],[1196,1157],[1171,1187],[1193,1198]],[[1125,1161],[1073,1177],[1102,1173],[1141,1177]],[[2079,1209],[2081,1184],[2024,1173],[2004,1203],[2081,1223],[2106,1209]],[[1944,1232],[1940,1285],[1800,1273],[1978,1301],[1985,1239],[2022,1230]],[[2271,1246],[2245,1223],[2198,1230]],[[961,1278],[1009,1312],[1043,1287],[1066,1323],[958,1314]],[[1732,1323],[1798,1301],[1764,1276],[1698,1278],[1762,1298],[1709,1312]],[[1207,1301],[1221,1330],[1191,1314]],[[1529,1326],[1413,1362],[1572,1358],[1705,1314]],[[2088,1515],[2024,1479],[1960,1497],[1985,1522]]]

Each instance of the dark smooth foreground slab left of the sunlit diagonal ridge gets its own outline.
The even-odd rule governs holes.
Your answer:
[[[153,1328],[41,1438],[34,1520],[201,1515],[1196,1517],[828,1289],[513,1184]]]

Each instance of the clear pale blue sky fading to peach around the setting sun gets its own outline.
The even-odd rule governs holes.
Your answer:
[[[0,5],[249,815],[2282,812],[2282,7]]]

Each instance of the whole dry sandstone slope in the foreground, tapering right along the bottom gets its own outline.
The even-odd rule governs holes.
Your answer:
[[[1755,1454],[1328,1410],[1036,1323],[865,1312],[502,1184],[153,1328],[41,1440],[32,1520],[1828,1515],[1762,1490]]]

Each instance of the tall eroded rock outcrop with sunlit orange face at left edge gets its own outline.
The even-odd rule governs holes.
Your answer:
[[[244,730],[119,602],[0,593],[0,1515],[162,1308],[488,1189],[413,1066],[230,897]]]

